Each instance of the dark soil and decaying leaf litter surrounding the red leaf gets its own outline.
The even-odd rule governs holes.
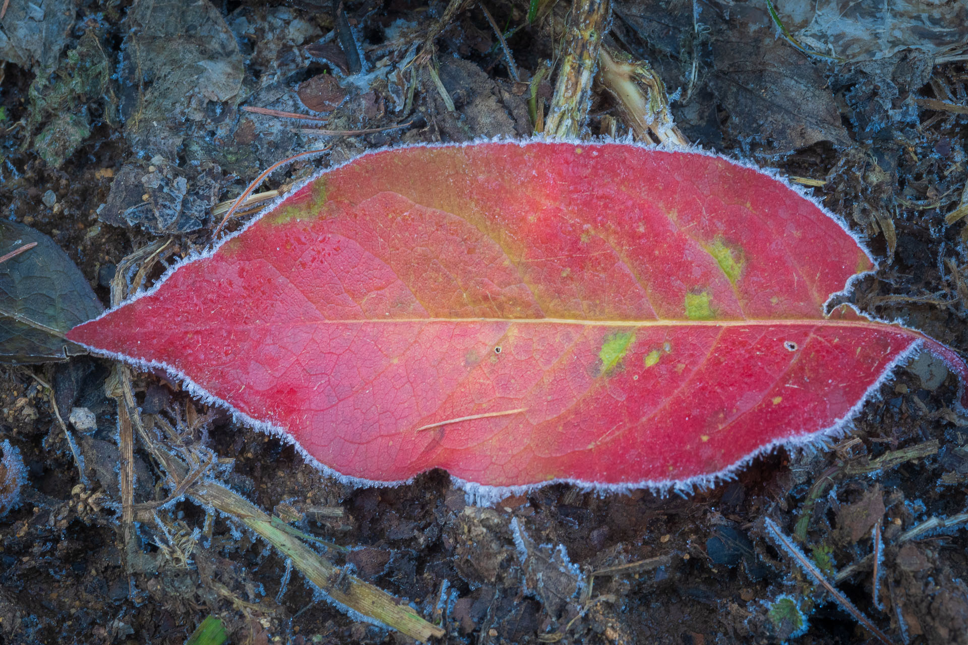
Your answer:
[[[616,4],[610,31],[577,35],[565,29],[568,19],[581,26],[582,12],[602,19],[607,8],[487,5],[505,30],[508,54],[469,3],[452,11],[350,5],[346,24],[367,66],[353,74],[348,41],[334,33],[337,20],[325,4],[136,2],[98,15],[64,3],[76,9],[76,21],[65,24],[53,4],[45,23],[46,13],[27,15],[32,5],[12,0],[0,22],[10,61],[2,72],[0,194],[10,216],[51,234],[107,303],[113,276],[117,289],[153,279],[157,262],[137,274],[145,258],[157,252],[154,259],[167,262],[204,245],[217,219],[207,209],[238,194],[260,168],[319,146],[318,137],[292,132],[313,124],[240,106],[308,114],[311,105],[337,103],[325,125],[333,130],[412,121],[398,131],[328,140],[323,164],[399,142],[523,136],[536,123],[571,135],[632,131],[752,158],[816,186],[883,258],[856,304],[965,348],[966,71],[957,32],[964,20],[906,43],[858,44],[818,29],[825,20],[776,7],[790,43],[775,38],[768,8],[759,5]],[[453,22],[438,28],[448,14]],[[14,28],[8,19],[34,22]],[[37,23],[45,29],[24,31]],[[44,46],[28,46],[37,41],[18,34],[40,34]],[[432,35],[436,56],[427,46]],[[561,77],[562,66],[581,69],[582,56],[569,59],[569,51],[585,51],[587,63],[597,58],[597,38],[620,70],[635,73],[636,87],[664,83],[677,97],[669,107],[675,130],[648,119],[637,125],[628,86]],[[172,39],[182,46],[170,46]],[[201,64],[185,65],[185,56]],[[99,60],[116,66],[117,77],[80,65]],[[606,72],[617,67],[602,64]],[[583,87],[588,104],[562,96]],[[553,104],[561,109],[549,112]],[[57,122],[67,113],[83,121]],[[312,168],[297,162],[261,190]],[[149,250],[130,269],[110,266],[134,249]],[[0,630],[15,641],[183,642],[208,614],[239,642],[401,637],[312,603],[279,551],[223,517],[186,502],[152,504],[178,493],[175,478],[187,488],[200,473],[271,510],[278,519],[263,523],[296,542],[321,551],[312,536],[350,547],[344,554],[330,546],[326,557],[412,601],[455,642],[731,642],[750,634],[769,642],[802,627],[804,640],[869,637],[777,533],[796,541],[811,566],[894,641],[966,637],[958,581],[964,428],[951,409],[953,379],[930,362],[899,371],[857,431],[830,452],[772,454],[737,482],[684,499],[600,498],[553,486],[493,509],[466,506],[439,473],[392,489],[322,480],[291,450],[232,427],[219,410],[193,404],[154,375],[128,381],[109,364],[76,359],[10,367],[4,378],[4,438],[28,473],[3,530]],[[122,406],[118,419],[109,395],[135,397],[140,413]],[[122,438],[134,437],[138,424],[144,440],[122,441],[119,450],[118,426]],[[230,472],[227,457],[234,457]],[[135,476],[119,482],[119,462],[131,463],[122,473]],[[136,505],[125,509],[128,486]],[[125,513],[140,518],[137,530]],[[883,559],[871,556],[877,550]],[[333,577],[330,589],[356,588],[348,576]]]

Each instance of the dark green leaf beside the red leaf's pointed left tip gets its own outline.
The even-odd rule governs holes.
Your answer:
[[[0,255],[31,242],[37,246],[0,264],[0,361],[41,363],[83,354],[57,333],[104,308],[53,240],[25,224],[0,220]]]

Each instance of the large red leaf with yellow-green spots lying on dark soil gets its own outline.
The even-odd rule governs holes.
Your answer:
[[[68,337],[353,478],[708,482],[839,431],[919,345],[965,374],[917,332],[824,315],[871,268],[814,203],[718,157],[414,147],[320,175]]]

